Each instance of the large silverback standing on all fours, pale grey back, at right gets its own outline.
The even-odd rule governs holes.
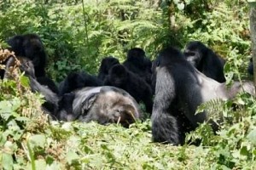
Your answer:
[[[218,126],[207,112],[195,115],[203,102],[211,99],[232,99],[243,90],[255,95],[253,82],[235,82],[231,88],[206,77],[186,60],[177,48],[163,49],[156,59],[156,86],[152,121],[154,142],[183,144],[183,121],[187,130],[209,121],[213,130]],[[187,131],[187,132],[188,132]]]

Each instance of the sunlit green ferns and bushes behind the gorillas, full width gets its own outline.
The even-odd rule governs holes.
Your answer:
[[[197,39],[224,57],[234,48],[248,55],[247,2],[231,2],[163,1],[162,13],[154,1],[15,1],[0,4],[0,37],[38,33],[58,82],[70,71],[96,73],[104,56],[123,61],[136,46],[154,59],[160,48]]]

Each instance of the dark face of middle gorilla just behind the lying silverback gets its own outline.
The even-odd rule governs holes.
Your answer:
[[[120,87],[126,82],[128,73],[124,65],[113,65],[109,71],[109,77],[110,82],[112,82],[114,86]]]

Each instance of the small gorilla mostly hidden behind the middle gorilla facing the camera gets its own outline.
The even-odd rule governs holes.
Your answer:
[[[104,81],[105,77],[108,75],[108,71],[113,65],[119,64],[119,59],[113,58],[112,56],[110,57],[105,57],[102,59],[102,64],[99,68],[99,74],[98,74],[98,79]]]

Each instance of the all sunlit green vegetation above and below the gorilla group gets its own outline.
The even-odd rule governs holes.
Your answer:
[[[48,74],[56,82],[70,71],[96,74],[103,57],[123,61],[133,47],[154,59],[160,48],[182,49],[190,40],[206,43],[227,59],[227,83],[252,78],[246,70],[251,54],[246,0],[2,0],[0,28],[3,47],[9,37],[37,33],[48,54]],[[202,124],[188,135],[188,141],[201,139],[200,146],[174,147],[151,143],[149,120],[129,129],[49,122],[40,111],[42,96],[30,93],[25,77],[0,83],[0,168],[256,167],[256,105],[247,94],[202,105],[224,117],[218,134]]]

